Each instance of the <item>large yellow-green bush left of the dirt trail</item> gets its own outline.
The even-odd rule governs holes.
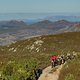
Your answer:
[[[34,69],[37,70],[35,59],[12,61],[3,68],[2,78],[5,80],[35,80]]]

